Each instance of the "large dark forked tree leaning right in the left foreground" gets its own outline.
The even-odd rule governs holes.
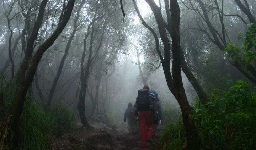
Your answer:
[[[20,135],[19,134],[19,121],[20,121],[20,116],[21,116],[22,110],[23,110],[23,105],[24,105],[24,102],[26,99],[26,94],[27,94],[28,88],[30,87],[30,85],[32,83],[33,77],[36,73],[38,63],[41,60],[44,52],[54,43],[54,41],[56,40],[58,35],[62,32],[62,30],[68,23],[69,18],[72,13],[72,10],[73,10],[75,0],[69,0],[66,5],[65,5],[65,1],[64,1],[62,15],[59,19],[58,27],[53,32],[53,34],[46,41],[44,41],[44,43],[42,43],[38,47],[38,49],[36,50],[36,52],[34,53],[34,55],[32,57],[34,43],[37,39],[38,31],[39,31],[42,21],[43,21],[44,11],[45,11],[47,2],[48,2],[48,0],[43,0],[40,4],[37,20],[34,24],[32,33],[30,35],[30,38],[28,39],[28,43],[26,46],[25,57],[23,58],[21,67],[19,68],[18,73],[17,73],[16,83],[17,83],[18,88],[15,91],[15,95],[16,95],[17,99],[15,100],[15,105],[12,110],[12,119],[10,122],[10,126],[11,126],[10,132],[13,132],[15,135],[14,140],[13,140],[15,146],[18,145],[17,142],[18,142],[19,135]]]

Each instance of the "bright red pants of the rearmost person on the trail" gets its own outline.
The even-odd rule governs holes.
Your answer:
[[[153,132],[153,112],[139,111],[139,123],[140,123],[140,147],[147,146],[147,138],[152,139]]]

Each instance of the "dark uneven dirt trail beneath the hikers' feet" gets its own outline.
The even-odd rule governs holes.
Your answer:
[[[56,150],[140,150],[140,136],[128,134],[127,122],[122,123],[102,123],[89,122],[91,127],[80,127],[73,133],[64,134],[61,137],[52,137],[52,148]],[[163,129],[158,129],[157,135]],[[143,150],[152,150],[158,138],[154,138],[154,143],[148,143]]]

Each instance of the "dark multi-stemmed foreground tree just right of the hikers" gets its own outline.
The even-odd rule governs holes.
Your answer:
[[[158,29],[160,33],[160,37],[164,46],[164,57],[161,54],[161,51],[159,50],[159,39],[154,32],[154,30],[146,24],[146,22],[141,17],[136,2],[133,0],[135,9],[138,13],[138,16],[140,20],[142,21],[142,24],[148,28],[151,33],[153,34],[155,38],[156,43],[156,51],[158,52],[158,55],[160,57],[165,79],[168,85],[169,90],[171,93],[175,96],[177,99],[181,112],[182,112],[182,118],[183,123],[185,126],[186,131],[186,137],[187,137],[187,144],[189,149],[197,149],[200,146],[200,139],[198,138],[196,126],[194,124],[194,121],[191,116],[191,107],[188,104],[187,97],[185,94],[185,89],[183,87],[182,78],[181,78],[181,56],[182,50],[180,47],[180,8],[178,5],[178,2],[176,0],[170,1],[170,9],[169,9],[169,2],[165,0],[165,10],[167,15],[167,23],[165,23],[164,18],[161,14],[161,8],[156,5],[156,3],[153,0],[146,0],[146,2],[149,4],[151,10],[154,13],[156,22],[158,24]],[[169,39],[166,33],[166,29],[168,30],[169,34],[171,35],[171,46],[169,43]],[[172,47],[172,49],[171,49]],[[172,50],[172,72],[170,71],[170,58]]]

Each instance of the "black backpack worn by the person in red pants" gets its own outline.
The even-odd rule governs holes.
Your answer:
[[[146,89],[138,90],[136,105],[137,105],[137,111],[150,110],[152,106],[152,100],[149,96],[148,90]]]

